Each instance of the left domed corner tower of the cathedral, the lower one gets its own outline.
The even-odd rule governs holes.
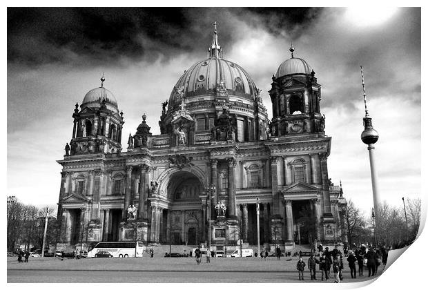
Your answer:
[[[124,113],[119,113],[113,93],[104,88],[105,80],[103,75],[101,86],[85,95],[80,111],[75,105],[70,155],[121,151]]]

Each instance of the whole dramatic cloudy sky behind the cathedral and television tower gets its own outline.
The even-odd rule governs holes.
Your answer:
[[[124,111],[122,139],[141,115],[152,132],[161,103],[182,72],[206,57],[214,21],[224,57],[261,88],[290,57],[305,59],[322,84],[329,176],[364,211],[372,206],[364,104],[380,133],[380,199],[400,206],[420,195],[420,8],[8,8],[8,195],[55,204],[72,134],[72,113],[88,90],[105,86]],[[124,142],[125,143],[125,142]],[[126,144],[123,144],[126,148]]]

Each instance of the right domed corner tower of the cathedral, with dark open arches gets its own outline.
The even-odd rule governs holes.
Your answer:
[[[272,77],[269,95],[272,101],[271,136],[323,133],[324,116],[320,114],[321,85],[304,59],[284,61]]]

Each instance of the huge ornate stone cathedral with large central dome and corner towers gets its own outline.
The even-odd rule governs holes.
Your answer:
[[[162,104],[160,135],[143,115],[124,140],[123,113],[101,77],[76,104],[72,139],[57,161],[57,247],[251,247],[257,216],[262,247],[345,242],[347,201],[328,175],[321,85],[293,51],[272,77],[269,119],[249,73],[224,59],[215,26],[207,58],[184,71]]]

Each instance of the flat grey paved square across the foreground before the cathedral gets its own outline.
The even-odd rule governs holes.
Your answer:
[[[87,258],[64,259],[32,258],[28,263],[18,263],[8,257],[8,282],[321,282],[311,281],[309,271],[305,280],[298,279],[295,271],[297,259],[282,258],[211,258],[197,265],[194,258]],[[304,259],[307,262],[307,258]],[[383,266],[378,269],[378,275]],[[197,273],[196,275],[194,273]],[[364,277],[351,280],[345,266],[342,282],[362,282]],[[79,279],[77,279],[78,277]],[[221,277],[221,279],[219,279]],[[324,283],[333,280],[324,281]]]

